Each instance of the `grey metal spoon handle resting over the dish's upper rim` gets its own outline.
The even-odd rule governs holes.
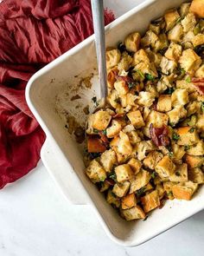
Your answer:
[[[105,60],[105,23],[104,23],[104,1],[92,0],[92,20],[95,34],[95,46],[98,62],[100,97],[107,96],[107,74]]]

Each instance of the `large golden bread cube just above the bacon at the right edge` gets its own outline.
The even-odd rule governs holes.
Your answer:
[[[201,57],[198,56],[193,49],[185,49],[182,52],[179,62],[182,69],[189,74],[194,75],[195,70],[201,65]]]

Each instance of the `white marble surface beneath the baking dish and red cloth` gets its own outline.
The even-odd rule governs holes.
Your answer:
[[[105,6],[119,16],[141,2],[105,0]],[[73,206],[64,199],[40,162],[0,191],[0,255],[200,256],[203,220],[201,212],[142,246],[118,246],[105,235],[91,207]]]

